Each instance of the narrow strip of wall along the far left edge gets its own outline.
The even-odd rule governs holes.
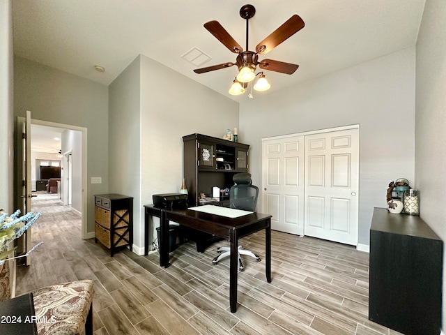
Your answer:
[[[0,209],[13,209],[13,19],[10,0],[0,1]]]

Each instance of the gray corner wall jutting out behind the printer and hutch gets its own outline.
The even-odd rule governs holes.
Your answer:
[[[222,137],[238,127],[238,103],[140,55],[110,84],[109,110],[109,190],[134,197],[134,247],[142,248],[144,204],[180,189],[181,137]]]

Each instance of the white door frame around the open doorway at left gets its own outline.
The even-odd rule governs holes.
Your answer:
[[[38,126],[47,126],[54,128],[63,128],[68,131],[80,131],[82,133],[82,202],[81,202],[81,234],[82,239],[91,238],[91,234],[87,231],[87,195],[88,195],[88,182],[87,182],[87,128],[72,126],[70,124],[58,124],[56,122],[43,121],[38,119],[31,119],[31,124]]]

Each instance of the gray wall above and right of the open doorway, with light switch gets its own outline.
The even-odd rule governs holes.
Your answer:
[[[87,128],[87,231],[94,231],[93,195],[108,191],[108,87],[91,80],[14,58],[14,114]],[[102,177],[102,184],[90,184]]]

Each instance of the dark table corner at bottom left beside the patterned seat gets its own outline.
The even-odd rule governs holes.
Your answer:
[[[1,335],[37,334],[33,294],[20,295],[0,302]]]

